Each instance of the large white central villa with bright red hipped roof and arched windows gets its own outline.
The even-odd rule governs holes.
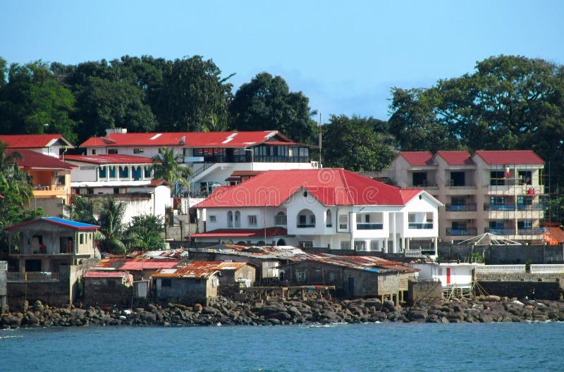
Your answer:
[[[436,249],[441,205],[424,190],[340,168],[266,171],[196,204],[200,232],[192,237],[393,253],[417,241]]]

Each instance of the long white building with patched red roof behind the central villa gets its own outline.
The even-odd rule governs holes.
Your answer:
[[[192,169],[192,192],[208,193],[227,185],[236,171],[317,168],[309,159],[309,146],[293,142],[276,130],[250,132],[151,132],[107,130],[104,137],[91,137],[80,147],[87,155],[120,154],[152,158],[168,147],[183,155]]]

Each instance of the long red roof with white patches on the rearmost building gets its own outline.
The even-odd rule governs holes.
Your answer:
[[[106,137],[90,137],[80,147],[250,147],[276,138],[284,144],[294,144],[276,130],[254,132],[163,132],[109,133]]]

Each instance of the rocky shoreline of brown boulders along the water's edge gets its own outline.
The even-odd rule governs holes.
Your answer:
[[[233,302],[219,297],[210,306],[145,304],[133,309],[75,306],[53,308],[35,302],[23,312],[0,317],[0,328],[82,327],[90,325],[288,325],[309,323],[490,323],[564,321],[564,302],[517,301],[497,296],[440,305],[395,306],[379,299],[304,301],[273,299],[262,303]]]

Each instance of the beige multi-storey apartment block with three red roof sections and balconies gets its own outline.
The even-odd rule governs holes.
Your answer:
[[[544,161],[532,150],[401,151],[382,175],[422,187],[443,202],[439,237],[462,241],[494,233],[517,242],[544,240]]]

